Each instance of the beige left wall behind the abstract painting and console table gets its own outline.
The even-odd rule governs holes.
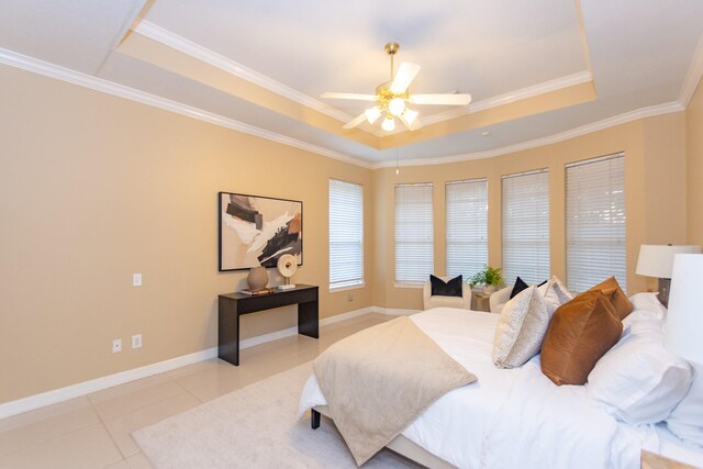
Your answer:
[[[10,67],[0,89],[0,403],[216,346],[246,276],[217,272],[217,191],[302,200],[294,281],[322,317],[371,305],[327,290],[328,178],[364,185],[370,279],[371,170]],[[295,321],[247,315],[242,337]]]

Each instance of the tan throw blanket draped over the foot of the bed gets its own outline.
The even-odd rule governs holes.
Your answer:
[[[337,342],[313,369],[359,466],[438,398],[477,379],[405,316]]]

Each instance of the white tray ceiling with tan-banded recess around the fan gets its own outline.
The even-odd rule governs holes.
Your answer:
[[[699,0],[435,3],[5,0],[0,62],[64,67],[364,166],[486,157],[681,110],[703,70]],[[416,107],[414,132],[343,130],[368,103],[320,96],[372,93],[389,41],[397,64],[422,66],[413,92],[471,104]]]

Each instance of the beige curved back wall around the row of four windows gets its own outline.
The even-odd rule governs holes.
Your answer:
[[[565,164],[625,152],[627,213],[627,288],[652,287],[636,276],[639,245],[685,242],[685,115],[683,112],[631,122],[589,135],[491,159],[373,171],[376,253],[373,304],[422,308],[422,290],[398,288],[394,280],[393,190],[397,183],[434,185],[435,273],[445,273],[445,182],[488,178],[489,264],[501,265],[501,176],[549,169],[550,260],[553,273],[566,279]]]

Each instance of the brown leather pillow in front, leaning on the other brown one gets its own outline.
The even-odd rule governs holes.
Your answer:
[[[607,295],[585,291],[557,309],[542,344],[542,372],[555,384],[584,384],[620,339],[623,323]]]

